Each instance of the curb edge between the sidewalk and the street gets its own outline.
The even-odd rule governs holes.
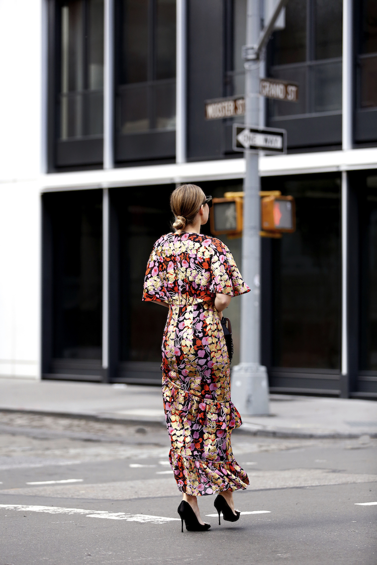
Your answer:
[[[45,411],[45,410],[21,410],[20,408],[0,408],[1,412],[6,413],[13,413],[13,414],[31,414],[31,415],[38,415],[38,416],[53,416],[56,418],[71,418],[76,420],[88,420],[88,421],[96,421],[98,423],[106,423],[106,424],[120,424],[120,425],[140,425],[140,426],[153,426],[159,428],[166,428],[166,423],[164,420],[150,420],[150,419],[132,419],[132,418],[111,418],[111,416],[98,416],[96,414],[81,414],[79,412],[53,412],[53,411]],[[322,440],[357,440],[359,437],[362,436],[369,436],[370,438],[377,438],[377,433],[367,433],[367,432],[359,432],[359,433],[346,433],[346,432],[324,432],[319,433],[314,429],[308,428],[307,430],[297,431],[293,430],[292,428],[254,428],[255,426],[260,426],[260,424],[249,424],[244,423],[242,424],[241,428],[236,428],[236,433],[240,433],[242,435],[248,436],[259,436],[259,437],[276,437],[276,438],[296,438],[296,439],[322,439]],[[249,426],[253,426],[252,429]],[[14,430],[21,430],[22,428],[14,428]],[[39,428],[38,428],[39,429]],[[60,433],[60,432],[55,432]],[[98,440],[97,440],[98,438]],[[97,436],[97,441],[109,441],[109,438],[106,436]]]

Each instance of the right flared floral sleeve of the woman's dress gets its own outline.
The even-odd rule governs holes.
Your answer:
[[[214,254],[211,257],[210,292],[238,296],[250,292],[249,286],[242,279],[233,255],[220,240],[213,239]]]

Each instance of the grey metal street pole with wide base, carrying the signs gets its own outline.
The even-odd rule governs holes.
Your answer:
[[[253,46],[260,36],[259,2],[248,0],[246,44]],[[259,125],[259,61],[245,63],[245,125]],[[268,380],[261,366],[261,241],[258,154],[245,151],[244,228],[242,235],[242,276],[251,292],[241,297],[240,364],[232,370],[232,400],[241,414],[268,414]]]

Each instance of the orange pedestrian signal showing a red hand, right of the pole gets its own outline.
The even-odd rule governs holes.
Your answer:
[[[296,209],[293,196],[262,198],[261,229],[266,232],[292,233],[296,230]]]

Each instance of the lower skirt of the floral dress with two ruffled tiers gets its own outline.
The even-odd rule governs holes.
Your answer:
[[[241,425],[233,403],[192,394],[166,376],[162,392],[172,444],[170,463],[179,490],[200,496],[245,489],[248,476],[231,448],[231,431]]]

